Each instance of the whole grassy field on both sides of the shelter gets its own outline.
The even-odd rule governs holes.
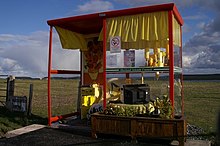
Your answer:
[[[0,79],[0,87],[5,80]],[[0,107],[1,134],[32,123],[47,124],[47,80],[15,81],[15,95],[29,96],[29,86],[33,84],[32,116],[25,117],[11,113]],[[76,111],[79,80],[52,80],[52,114],[66,114]],[[220,111],[220,81],[186,81],[184,82],[184,106],[187,122],[205,130],[216,132],[217,115]],[[4,94],[4,93],[1,93]],[[4,100],[1,97],[1,100]],[[1,103],[0,103],[1,104]]]

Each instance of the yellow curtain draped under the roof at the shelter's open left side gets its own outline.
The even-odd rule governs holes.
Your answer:
[[[80,49],[81,51],[87,51],[86,40],[82,34],[69,31],[58,26],[55,26],[55,28],[59,34],[62,48]]]

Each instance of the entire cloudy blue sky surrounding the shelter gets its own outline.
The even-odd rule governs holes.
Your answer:
[[[220,73],[219,0],[1,0],[0,75],[47,76],[47,20],[94,12],[175,3],[183,20],[183,73]],[[74,50],[53,37],[53,68],[79,69]]]

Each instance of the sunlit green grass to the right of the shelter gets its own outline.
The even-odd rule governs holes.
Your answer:
[[[184,82],[185,115],[187,121],[216,132],[220,112],[220,82]]]

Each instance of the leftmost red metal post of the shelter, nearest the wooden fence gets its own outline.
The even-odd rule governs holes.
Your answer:
[[[49,38],[49,54],[48,54],[48,79],[47,79],[47,94],[48,94],[48,125],[51,126],[51,93],[50,93],[50,77],[52,67],[52,35],[53,27],[50,26],[50,38]]]

